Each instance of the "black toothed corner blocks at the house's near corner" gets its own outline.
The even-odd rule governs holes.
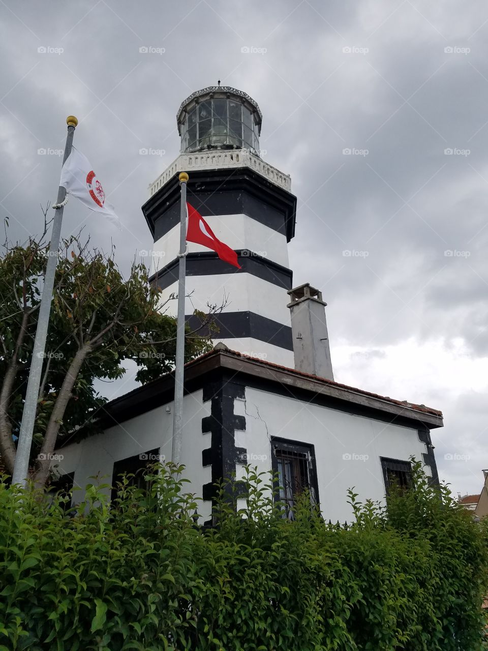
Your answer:
[[[215,484],[230,479],[236,473],[236,463],[242,463],[247,450],[236,447],[236,430],[245,430],[244,416],[234,414],[234,400],[245,397],[245,387],[221,377],[203,388],[203,402],[211,400],[210,416],[202,418],[202,434],[211,434],[210,448],[202,450],[202,465],[211,466],[211,482],[202,487],[204,500],[212,501],[218,488]],[[232,486],[226,486],[229,495]]]

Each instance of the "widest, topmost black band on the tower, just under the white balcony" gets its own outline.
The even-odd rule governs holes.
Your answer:
[[[297,198],[247,167],[189,171],[187,200],[203,217],[240,215],[276,230],[290,242],[295,234]],[[171,178],[142,206],[142,213],[159,240],[180,223],[180,183]]]

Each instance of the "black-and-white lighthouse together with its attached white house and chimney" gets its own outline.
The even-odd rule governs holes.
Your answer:
[[[292,288],[296,199],[290,176],[259,156],[256,102],[209,87],[187,98],[177,119],[182,152],[142,206],[165,262],[154,282],[163,299],[177,292],[180,171],[189,174],[188,201],[241,264],[189,243],[187,319],[226,303],[216,318],[219,344],[185,367],[182,463],[204,521],[214,483],[233,473],[238,480],[245,464],[277,471],[290,506],[307,487],[325,518],[341,521],[351,516],[347,488],[381,500],[392,477],[409,482],[411,456],[437,481],[430,430],[442,426],[441,412],[334,381],[326,303],[310,284]],[[103,434],[57,450],[64,481],[111,482],[160,455],[170,460],[173,391],[167,375],[105,406]]]

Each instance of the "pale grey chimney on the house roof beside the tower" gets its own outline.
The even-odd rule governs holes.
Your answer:
[[[334,380],[322,292],[305,283],[288,294],[296,370]]]

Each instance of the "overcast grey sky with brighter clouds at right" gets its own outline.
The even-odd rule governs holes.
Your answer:
[[[293,282],[317,286],[329,304],[336,380],[442,409],[445,427],[433,432],[439,473],[455,492],[480,491],[488,467],[484,1],[0,0],[0,16],[0,206],[12,239],[41,229],[39,204],[57,195],[57,150],[73,113],[75,145],[124,228],[73,200],[63,234],[85,223],[95,245],[115,242],[127,268],[151,247],[141,205],[178,155],[180,103],[217,79],[245,90],[264,116],[263,157],[291,174]],[[105,394],[128,388],[105,385]]]

